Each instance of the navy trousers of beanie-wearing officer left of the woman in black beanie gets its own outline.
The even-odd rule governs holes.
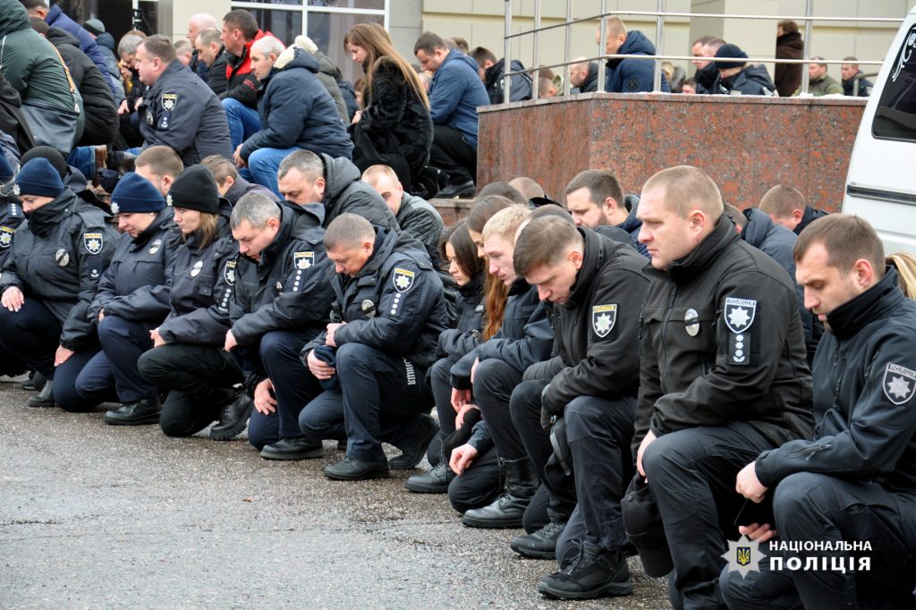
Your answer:
[[[98,323],[102,351],[76,378],[76,391],[86,400],[136,402],[158,397],[158,389],[140,376],[137,362],[152,349],[149,332],[158,323],[106,315]]]

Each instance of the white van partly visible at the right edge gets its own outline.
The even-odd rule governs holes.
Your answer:
[[[890,45],[862,114],[843,212],[867,219],[888,254],[916,255],[916,8]]]

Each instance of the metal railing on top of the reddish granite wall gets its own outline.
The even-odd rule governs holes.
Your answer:
[[[505,58],[503,65],[506,67],[503,72],[503,102],[507,103],[511,98],[511,80],[512,76],[516,74],[531,74],[531,97],[532,99],[538,99],[539,95],[539,81],[538,72],[541,68],[562,68],[563,69],[563,94],[568,95],[570,93],[570,67],[573,64],[580,63],[583,61],[597,61],[598,62],[598,87],[599,91],[604,91],[605,83],[605,60],[614,60],[614,59],[629,59],[629,60],[643,60],[643,61],[653,61],[654,62],[654,71],[652,79],[652,91],[653,93],[660,93],[661,91],[661,61],[663,60],[696,60],[697,58],[692,55],[665,55],[662,52],[663,47],[663,34],[664,34],[664,22],[665,17],[686,17],[686,18],[721,18],[721,19],[766,19],[769,21],[774,20],[784,20],[791,19],[793,21],[803,21],[804,22],[804,38],[802,40],[802,60],[780,60],[775,57],[749,57],[747,62],[767,62],[767,63],[783,63],[783,64],[804,64],[806,67],[810,63],[826,63],[826,64],[843,64],[850,63],[846,60],[812,60],[809,54],[809,49],[811,45],[811,36],[812,36],[812,25],[815,21],[834,21],[834,22],[856,22],[856,23],[895,23],[900,24],[903,22],[903,17],[847,17],[847,16],[814,16],[812,14],[813,9],[813,0],[805,1],[805,14],[803,16],[778,16],[778,15],[737,15],[737,14],[719,14],[719,13],[682,13],[682,12],[669,12],[664,10],[664,0],[658,0],[658,10],[656,11],[627,11],[627,10],[616,10],[608,11],[607,10],[607,0],[601,1],[601,13],[593,16],[584,16],[584,17],[573,17],[573,2],[574,0],[566,0],[566,20],[562,23],[551,24],[548,26],[541,26],[541,0],[534,1],[534,27],[528,30],[522,30],[520,32],[512,32],[512,0],[504,0],[506,3],[506,13],[505,13],[505,27],[504,27],[504,54]],[[631,55],[631,54],[620,54],[620,53],[602,53],[595,57],[585,58],[585,59],[576,59],[570,60],[572,39],[573,39],[573,26],[579,23],[594,22],[600,20],[600,32],[599,32],[599,50],[605,49],[606,37],[607,37],[607,17],[609,16],[654,16],[656,19],[655,27],[655,55]],[[565,28],[565,38],[563,45],[563,60],[550,63],[550,64],[541,64],[539,62],[539,51],[540,51],[540,32],[557,29],[559,27]],[[522,38],[525,36],[531,36],[532,38],[532,61],[531,66],[525,70],[513,71],[512,70],[512,48],[511,42],[515,38]],[[712,58],[703,58],[703,60],[712,60]],[[883,63],[883,60],[856,60],[858,65],[865,66],[880,66]],[[809,76],[807,70],[802,70],[802,93],[808,93],[808,82]],[[856,92],[857,93],[857,92]]]

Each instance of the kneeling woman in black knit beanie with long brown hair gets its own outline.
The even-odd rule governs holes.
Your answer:
[[[238,247],[229,228],[229,202],[219,196],[207,169],[193,165],[181,172],[166,203],[174,207],[184,244],[171,272],[169,315],[150,332],[153,348],[138,366],[150,385],[170,390],[159,418],[162,431],[191,436],[233,402],[248,400],[244,389],[234,389],[242,372],[222,349]],[[134,417],[143,414],[136,409]],[[224,440],[220,430],[211,430],[211,438]]]

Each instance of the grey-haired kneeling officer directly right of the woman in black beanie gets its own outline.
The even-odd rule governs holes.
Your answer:
[[[299,353],[330,320],[323,214],[320,203],[281,206],[257,192],[243,195],[232,212],[239,257],[224,347],[237,356],[253,393],[248,441],[266,458],[309,457],[297,451],[303,442],[306,453],[315,452],[302,437],[299,412],[321,388]],[[234,416],[234,433],[245,429],[246,417]]]

